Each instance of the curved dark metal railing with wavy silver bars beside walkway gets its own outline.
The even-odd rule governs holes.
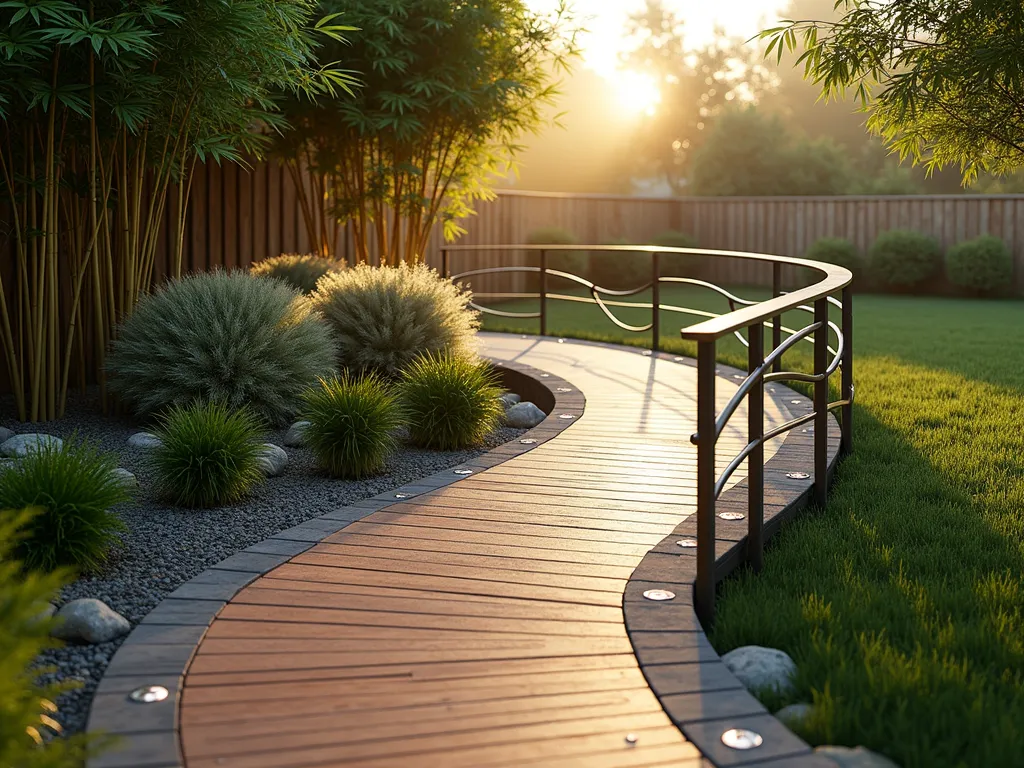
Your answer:
[[[537,253],[539,264],[498,266],[469,269],[451,273],[452,254],[470,252],[528,252]],[[584,276],[548,266],[548,255],[558,252],[613,252],[634,258],[649,258],[649,280],[638,288],[609,290],[595,285]],[[757,261],[772,267],[772,297],[764,301],[742,299],[720,286],[695,278],[677,278],[662,274],[662,256],[665,254],[689,255],[701,258],[729,258]],[[792,292],[782,291],[782,268],[810,269],[821,278],[813,285]],[[697,450],[696,516],[697,516],[697,573],[694,586],[694,607],[705,626],[715,618],[715,518],[716,503],[725,489],[729,477],[746,462],[748,479],[748,536],[746,561],[760,569],[764,561],[764,447],[765,444],[804,424],[813,425],[813,496],[824,505],[828,490],[828,414],[840,412],[841,456],[853,450],[853,275],[844,267],[787,256],[745,253],[738,251],[713,251],[696,248],[667,248],[662,246],[587,246],[587,245],[494,245],[447,246],[441,249],[441,271],[459,282],[484,274],[532,273],[539,275],[537,293],[480,293],[474,294],[473,306],[481,312],[510,318],[537,318],[542,336],[548,332],[548,305],[551,301],[584,302],[596,305],[618,328],[634,333],[651,334],[651,349],[658,350],[660,341],[660,312],[673,311],[703,318],[696,325],[683,328],[681,338],[697,345],[697,429],[690,441]],[[552,293],[549,279],[556,278],[582,286],[590,297]],[[716,313],[692,307],[664,304],[660,288],[664,285],[690,285],[713,291],[724,297],[729,310]],[[636,302],[623,299],[645,291],[651,292],[651,301]],[[840,295],[840,298],[836,297]],[[510,312],[477,303],[479,299],[525,299],[540,301],[536,312]],[[828,318],[829,306],[840,310],[840,323]],[[650,323],[633,326],[615,316],[612,307],[650,309]],[[782,325],[785,312],[800,311],[811,315],[811,322],[799,329]],[[771,351],[764,351],[764,330],[771,329]],[[783,339],[783,335],[785,338]],[[735,336],[748,349],[748,373],[729,402],[718,412],[715,400],[717,345],[720,339]],[[835,346],[829,344],[835,337]],[[813,373],[786,371],[782,359],[786,351],[800,342],[810,343],[813,351]],[[829,401],[829,377],[840,373],[840,397]],[[813,411],[791,419],[770,430],[764,428],[764,387],[772,381],[800,381],[813,384]],[[748,412],[746,444],[728,463],[722,472],[716,465],[718,440],[740,404],[745,401]]]

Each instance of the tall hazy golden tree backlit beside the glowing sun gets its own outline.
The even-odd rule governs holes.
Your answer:
[[[623,66],[652,76],[662,92],[631,151],[640,168],[682,195],[690,162],[718,115],[734,102],[756,101],[770,87],[770,74],[756,48],[721,31],[710,45],[689,48],[682,19],[662,0],[647,0],[627,29],[636,45],[623,56]]]

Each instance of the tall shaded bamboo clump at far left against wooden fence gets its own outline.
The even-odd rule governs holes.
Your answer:
[[[19,420],[58,418],[69,387],[92,381],[105,404],[103,350],[166,276],[162,238],[167,273],[181,272],[196,164],[258,157],[284,125],[281,94],[348,88],[313,55],[345,30],[314,12],[306,0],[2,4],[0,341]]]

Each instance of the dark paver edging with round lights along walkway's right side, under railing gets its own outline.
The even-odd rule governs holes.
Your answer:
[[[680,361],[678,357],[673,359]],[[717,371],[722,378],[746,375],[728,366],[719,366]],[[807,397],[782,385],[772,386],[776,390],[773,397],[783,410],[795,415],[812,410]],[[800,402],[795,402],[798,399]],[[790,404],[784,404],[786,400]],[[765,541],[809,504],[813,478],[794,480],[785,473],[807,471],[813,466],[813,445],[812,433],[798,428],[787,433],[776,454],[765,463]],[[839,446],[839,425],[829,417],[829,479]],[[746,488],[744,479],[723,493],[717,512],[745,515]],[[716,519],[717,581],[746,562],[746,525],[745,517],[737,521]],[[623,596],[626,629],[647,684],[672,722],[715,766],[835,768],[835,763],[813,754],[809,744],[774,718],[708,641],[693,609],[696,550],[677,545],[680,539],[695,539],[696,532],[696,516],[691,515],[641,560]],[[649,589],[671,590],[676,598],[666,602],[646,600],[643,592]],[[730,728],[756,731],[764,742],[753,750],[730,749],[722,743],[722,734]]]

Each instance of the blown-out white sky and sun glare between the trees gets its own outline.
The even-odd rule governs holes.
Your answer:
[[[550,12],[558,0],[527,0],[531,8]],[[771,26],[785,7],[785,0],[663,0],[666,8],[683,20],[686,40],[699,46],[710,42],[716,28],[748,40]],[[580,43],[583,63],[608,81],[616,103],[631,115],[657,110],[660,93],[648,75],[624,71],[620,57],[631,47],[627,20],[642,10],[644,0],[570,0],[570,7],[587,32]]]

